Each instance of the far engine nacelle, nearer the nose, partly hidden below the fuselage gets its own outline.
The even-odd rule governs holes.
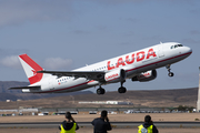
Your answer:
[[[147,82],[154,80],[157,78],[157,71],[156,70],[150,70],[147,72],[142,72],[137,76],[132,78],[132,81],[140,81],[140,82]]]

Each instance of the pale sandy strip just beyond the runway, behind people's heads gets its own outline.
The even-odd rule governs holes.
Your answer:
[[[110,122],[143,122],[147,113],[133,114],[109,114]],[[200,120],[200,113],[151,113],[149,114],[153,122],[194,122]],[[72,115],[77,122],[91,122],[99,117],[99,114],[76,114]],[[64,115],[46,115],[46,116],[0,116],[0,123],[9,122],[62,122]]]

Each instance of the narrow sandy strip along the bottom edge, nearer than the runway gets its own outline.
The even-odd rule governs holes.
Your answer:
[[[200,129],[158,129],[160,133],[199,133]],[[60,133],[58,129],[0,129],[0,133]],[[77,133],[93,133],[92,129],[80,129]],[[137,133],[137,129],[113,129],[108,133]]]

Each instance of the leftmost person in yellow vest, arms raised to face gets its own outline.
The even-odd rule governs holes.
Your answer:
[[[66,120],[59,126],[60,133],[76,133],[79,130],[79,125],[71,116],[70,112],[66,113]]]

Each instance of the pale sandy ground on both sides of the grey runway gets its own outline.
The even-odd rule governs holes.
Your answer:
[[[147,114],[109,114],[111,122],[114,121],[139,121],[142,122],[143,117]],[[200,113],[157,113],[150,114],[154,122],[159,121],[191,121],[194,122],[196,119],[200,119]],[[78,114],[73,115],[77,122],[91,122],[94,117],[98,117],[98,114]],[[63,115],[47,115],[47,116],[2,116],[0,117],[0,123],[7,122],[62,122]],[[130,129],[113,129],[108,133],[137,133],[137,127]],[[200,129],[158,129],[160,133],[198,133]],[[60,131],[57,127],[52,129],[23,129],[23,127],[13,127],[13,129],[0,129],[0,133],[59,133]],[[92,133],[92,127],[80,127],[77,133]]]

